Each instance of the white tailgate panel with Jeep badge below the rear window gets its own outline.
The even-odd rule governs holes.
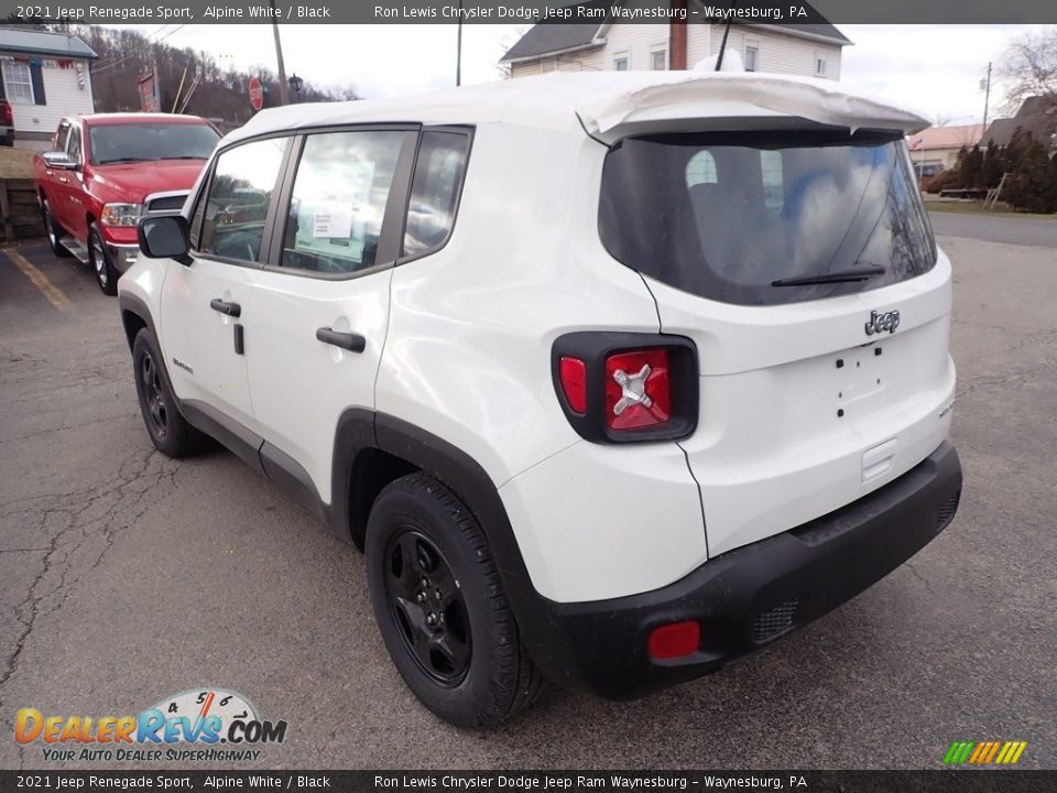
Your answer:
[[[891,286],[766,307],[647,279],[664,332],[698,348],[698,427],[679,445],[701,486],[710,556],[851,503],[939,446],[955,397],[950,274],[940,252]],[[900,311],[894,334],[865,334],[875,309]]]

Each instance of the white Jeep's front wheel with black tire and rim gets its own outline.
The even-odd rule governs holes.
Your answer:
[[[168,457],[188,457],[205,448],[208,438],[188,424],[176,406],[157,339],[148,328],[140,330],[132,344],[132,372],[146,434],[157,450]]]

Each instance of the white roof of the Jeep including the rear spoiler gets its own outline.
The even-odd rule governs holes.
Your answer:
[[[667,107],[658,115],[658,107]],[[645,113],[645,116],[643,115]],[[630,118],[631,116],[642,118]],[[606,132],[626,121],[792,116],[858,129],[917,131],[920,113],[832,80],[759,72],[555,72],[432,94],[262,110],[229,133],[233,142],[270,132],[341,123],[511,123]]]

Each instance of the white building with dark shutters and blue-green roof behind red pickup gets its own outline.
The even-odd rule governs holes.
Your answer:
[[[11,102],[17,146],[44,148],[64,116],[92,112],[97,57],[75,35],[0,28],[0,98]]]

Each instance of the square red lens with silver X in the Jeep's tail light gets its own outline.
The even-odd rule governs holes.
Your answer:
[[[672,417],[667,349],[619,352],[606,359],[606,425],[615,432],[664,424]]]

